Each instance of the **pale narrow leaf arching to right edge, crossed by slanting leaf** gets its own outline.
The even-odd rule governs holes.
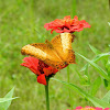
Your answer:
[[[98,54],[91,62],[96,63],[96,62],[98,62],[98,61],[100,61],[101,58],[107,57],[107,56],[110,56],[110,53]],[[87,63],[87,64],[81,68],[80,72],[85,70],[87,65],[90,66],[90,65]]]

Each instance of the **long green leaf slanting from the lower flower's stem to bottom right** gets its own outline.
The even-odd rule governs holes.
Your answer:
[[[52,78],[54,79],[54,78]],[[79,95],[84,96],[85,98],[87,98],[89,101],[91,101],[96,107],[100,107],[100,108],[110,108],[110,105],[105,102],[103,100],[100,100],[96,97],[92,97],[91,95],[87,94],[86,91],[84,91],[81,88],[77,87],[76,85],[74,84],[69,84],[69,82],[66,82],[66,81],[62,81],[62,80],[58,80],[58,79],[54,79],[58,82],[62,82],[64,84],[65,86],[69,87],[70,89],[75,90],[76,92],[78,92]]]

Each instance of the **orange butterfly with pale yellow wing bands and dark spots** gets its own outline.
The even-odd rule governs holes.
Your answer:
[[[22,47],[23,55],[34,56],[45,64],[61,69],[68,64],[75,64],[75,52],[72,48],[74,42],[74,34],[61,33],[55,36],[51,42],[33,43]]]

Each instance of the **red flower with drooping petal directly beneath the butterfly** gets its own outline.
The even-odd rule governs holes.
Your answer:
[[[46,77],[51,77],[58,72],[35,57],[24,57],[23,61],[24,63],[21,65],[32,70],[37,76],[37,82],[43,85],[46,85]]]

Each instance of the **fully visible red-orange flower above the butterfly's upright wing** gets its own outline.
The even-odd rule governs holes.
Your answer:
[[[67,15],[64,19],[56,19],[50,23],[45,23],[44,28],[46,30],[52,30],[51,33],[53,33],[53,31],[57,33],[74,33],[76,31],[82,31],[84,28],[90,28],[90,25],[85,20],[79,21],[77,15],[75,15],[74,19]]]

